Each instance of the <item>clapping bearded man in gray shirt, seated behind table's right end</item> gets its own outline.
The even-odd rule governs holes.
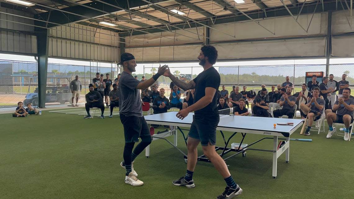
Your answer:
[[[281,96],[279,106],[282,109],[273,110],[274,118],[279,118],[282,115],[287,115],[289,118],[293,118],[295,114],[294,106],[296,104],[296,97],[291,95],[292,87],[286,88],[286,93]]]

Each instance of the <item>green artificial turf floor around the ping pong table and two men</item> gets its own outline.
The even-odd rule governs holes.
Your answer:
[[[0,120],[1,199],[214,199],[225,188],[222,177],[206,162],[196,165],[195,188],[172,185],[185,174],[186,164],[182,154],[163,140],[153,141],[149,158],[144,151],[135,161],[144,185],[125,184],[125,170],[119,166],[124,137],[117,116],[84,120],[82,115],[42,111],[42,115],[27,118],[1,114]],[[178,136],[179,147],[186,152],[181,134]],[[244,142],[262,137],[247,135]],[[236,135],[232,142],[240,138]],[[244,190],[238,198],[352,199],[353,141],[336,136],[326,139],[326,133],[300,136],[299,130],[292,138],[311,138],[313,142],[291,141],[290,163],[285,163],[284,154],[278,159],[277,179],[272,178],[272,153],[247,151],[246,157],[227,161]],[[222,143],[218,133],[217,145]],[[255,147],[271,149],[272,140]]]

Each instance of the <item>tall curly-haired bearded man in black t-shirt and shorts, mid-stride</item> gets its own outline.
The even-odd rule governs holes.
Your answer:
[[[227,183],[225,191],[217,198],[232,198],[233,196],[240,195],[242,189],[235,183],[225,161],[215,150],[216,127],[220,120],[219,112],[216,107],[216,92],[220,86],[220,75],[213,67],[217,59],[217,50],[210,45],[202,46],[198,59],[199,65],[201,65],[204,70],[188,84],[178,80],[171,74],[169,69],[164,74],[183,90],[195,88],[194,104],[186,109],[180,110],[176,115],[179,119],[184,119],[190,112],[194,112],[194,118],[187,141],[187,172],[185,176],[173,181],[173,184],[186,186],[188,188],[195,187],[192,177],[198,159],[197,147],[200,142],[204,154],[213,163]]]

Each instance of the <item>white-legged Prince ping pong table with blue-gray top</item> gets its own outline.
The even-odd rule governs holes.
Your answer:
[[[229,109],[228,109],[229,110]],[[227,110],[227,111],[228,111]],[[225,112],[224,112],[225,113]],[[181,127],[190,127],[193,121],[194,113],[189,113],[186,118],[183,120],[178,119],[176,117],[177,112],[167,112],[167,113],[160,113],[155,115],[147,115],[144,116],[146,122],[150,124],[158,124],[158,125],[169,125],[173,126],[170,131],[152,135],[152,140],[165,140],[173,147],[175,147],[179,152],[184,155],[185,162],[187,162],[187,154],[185,154],[181,149],[177,147],[177,130],[181,132],[184,142],[187,145],[187,137],[184,135],[183,130],[188,129],[181,129]],[[236,116],[236,115],[220,115],[220,121],[217,126],[217,129],[224,141],[224,146],[222,147],[215,147],[216,150],[222,150],[222,153],[219,155],[223,158],[225,154],[229,152],[236,152],[227,158],[223,158],[227,160],[229,158],[234,157],[235,155],[242,154],[245,156],[245,152],[247,150],[257,150],[257,151],[264,151],[264,152],[272,152],[273,153],[273,178],[276,178],[277,175],[277,160],[281,154],[285,152],[285,161],[289,163],[289,147],[290,147],[290,136],[293,132],[295,132],[299,127],[302,126],[303,120],[300,119],[287,119],[287,118],[261,118],[261,117],[252,117],[252,116]],[[294,123],[293,125],[276,125],[276,123]],[[223,131],[234,132],[232,135],[226,140]],[[229,148],[228,144],[230,140],[236,135],[236,133],[241,133],[242,140],[239,143],[239,146],[236,148]],[[263,137],[258,141],[255,141],[249,144],[245,148],[241,148],[241,144],[243,143],[245,136],[247,133],[264,135],[264,136],[273,136],[273,137]],[[174,136],[173,142],[170,142],[166,139],[168,136]],[[281,138],[279,138],[281,137]],[[273,150],[267,149],[257,149],[257,148],[250,148],[254,144],[261,142],[266,139],[273,139]],[[285,140],[285,144],[278,148],[278,141]],[[145,149],[145,156],[148,158],[150,155],[150,146]],[[208,161],[204,155],[198,157],[198,161]]]

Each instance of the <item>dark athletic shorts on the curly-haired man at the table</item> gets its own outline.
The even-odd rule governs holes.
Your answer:
[[[216,127],[219,124],[219,114],[211,115],[194,115],[192,126],[188,133],[188,137],[200,140],[202,146],[208,146],[216,143]]]

